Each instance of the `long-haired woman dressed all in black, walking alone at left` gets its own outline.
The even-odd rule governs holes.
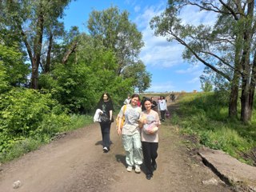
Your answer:
[[[108,122],[99,122],[102,131],[102,146],[103,152],[107,153],[110,150],[110,126],[111,122],[113,122],[113,103],[110,98],[110,94],[103,93],[100,98],[97,109],[102,110],[103,114],[106,114],[107,118],[109,118]]]

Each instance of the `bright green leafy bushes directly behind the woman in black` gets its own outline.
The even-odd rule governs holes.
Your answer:
[[[113,51],[94,44],[86,34],[79,37],[76,58],[65,65],[54,64],[51,72],[41,74],[39,87],[50,90],[53,98],[75,113],[90,113],[104,91],[113,96],[114,102],[133,92],[131,78],[121,78]]]

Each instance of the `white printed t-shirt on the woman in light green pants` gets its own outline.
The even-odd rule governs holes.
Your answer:
[[[118,116],[122,118],[123,116],[123,108],[122,106]],[[132,135],[135,133],[140,133],[140,129],[138,128],[138,119],[140,118],[140,114],[142,112],[141,107],[139,106],[131,106],[130,104],[126,105],[125,117],[126,121],[122,126],[122,134]]]

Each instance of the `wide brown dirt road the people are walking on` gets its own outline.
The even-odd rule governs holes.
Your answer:
[[[171,107],[171,106],[170,106]],[[158,170],[151,180],[142,173],[126,171],[121,138],[111,127],[113,145],[102,152],[98,123],[72,131],[64,138],[1,166],[1,192],[70,191],[232,191],[186,147],[170,120],[159,130]],[[203,184],[202,182],[218,182]],[[18,189],[13,188],[20,181]]]

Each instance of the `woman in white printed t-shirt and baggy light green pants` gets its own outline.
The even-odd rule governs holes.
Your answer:
[[[131,96],[130,104],[126,105],[126,110],[124,111],[124,106],[122,106],[118,117],[118,135],[122,134],[122,145],[126,150],[126,170],[128,172],[133,170],[135,167],[135,173],[140,173],[140,166],[142,165],[142,142],[140,135],[140,128],[138,127],[138,119],[142,112],[141,107],[138,106],[138,94],[133,94]],[[121,119],[125,115],[125,122],[121,129]]]

